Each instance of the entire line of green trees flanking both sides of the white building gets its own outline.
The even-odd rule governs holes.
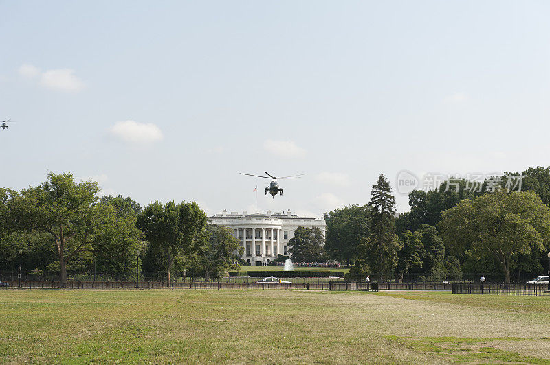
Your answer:
[[[351,279],[403,280],[415,273],[443,281],[500,272],[510,281],[512,272],[540,274],[550,250],[550,167],[511,175],[523,176],[521,187],[489,189],[486,180],[472,190],[462,179],[456,189],[442,183],[412,191],[410,211],[396,215],[381,174],[369,204],[325,213],[326,238],[318,228],[299,227],[289,253],[298,262],[347,264]],[[0,188],[0,270],[23,265],[59,272],[65,285],[67,272],[94,266],[113,277],[132,276],[139,257],[142,272],[164,272],[170,285],[174,272],[208,280],[244,263],[232,230],[209,225],[195,202],[155,201],[143,209],[131,198],[99,192],[98,183],[77,182],[70,173],[50,173],[20,191]]]

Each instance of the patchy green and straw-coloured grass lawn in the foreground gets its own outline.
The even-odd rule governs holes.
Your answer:
[[[550,297],[0,290],[0,363],[550,364]]]

